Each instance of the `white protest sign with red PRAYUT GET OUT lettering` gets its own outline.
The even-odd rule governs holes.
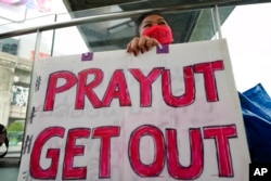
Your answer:
[[[36,63],[18,180],[248,180],[225,40]]]

